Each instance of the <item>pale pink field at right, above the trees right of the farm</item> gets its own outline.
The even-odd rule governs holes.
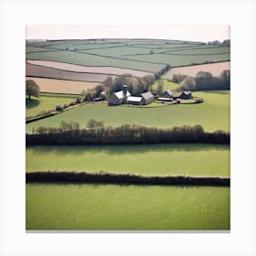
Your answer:
[[[203,65],[195,65],[190,67],[180,67],[180,68],[173,68],[167,71],[163,76],[162,79],[172,80],[174,74],[183,74],[191,77],[196,77],[197,72],[204,71],[210,72],[213,76],[218,77],[220,73],[225,70],[230,69],[230,62],[219,62],[219,63],[210,63],[210,64],[203,64]]]

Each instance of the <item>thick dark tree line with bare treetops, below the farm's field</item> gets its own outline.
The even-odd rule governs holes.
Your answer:
[[[123,124],[119,127],[105,126],[91,119],[85,129],[79,123],[62,121],[59,128],[38,127],[26,134],[27,144],[173,144],[203,143],[229,144],[229,133],[221,130],[205,132],[201,125],[184,125],[173,128],[145,127]]]

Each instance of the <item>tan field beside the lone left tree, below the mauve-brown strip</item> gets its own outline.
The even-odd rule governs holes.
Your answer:
[[[53,80],[34,77],[27,77],[26,79],[36,81],[40,91],[50,93],[80,94],[81,91],[87,91],[100,84],[93,81]]]

